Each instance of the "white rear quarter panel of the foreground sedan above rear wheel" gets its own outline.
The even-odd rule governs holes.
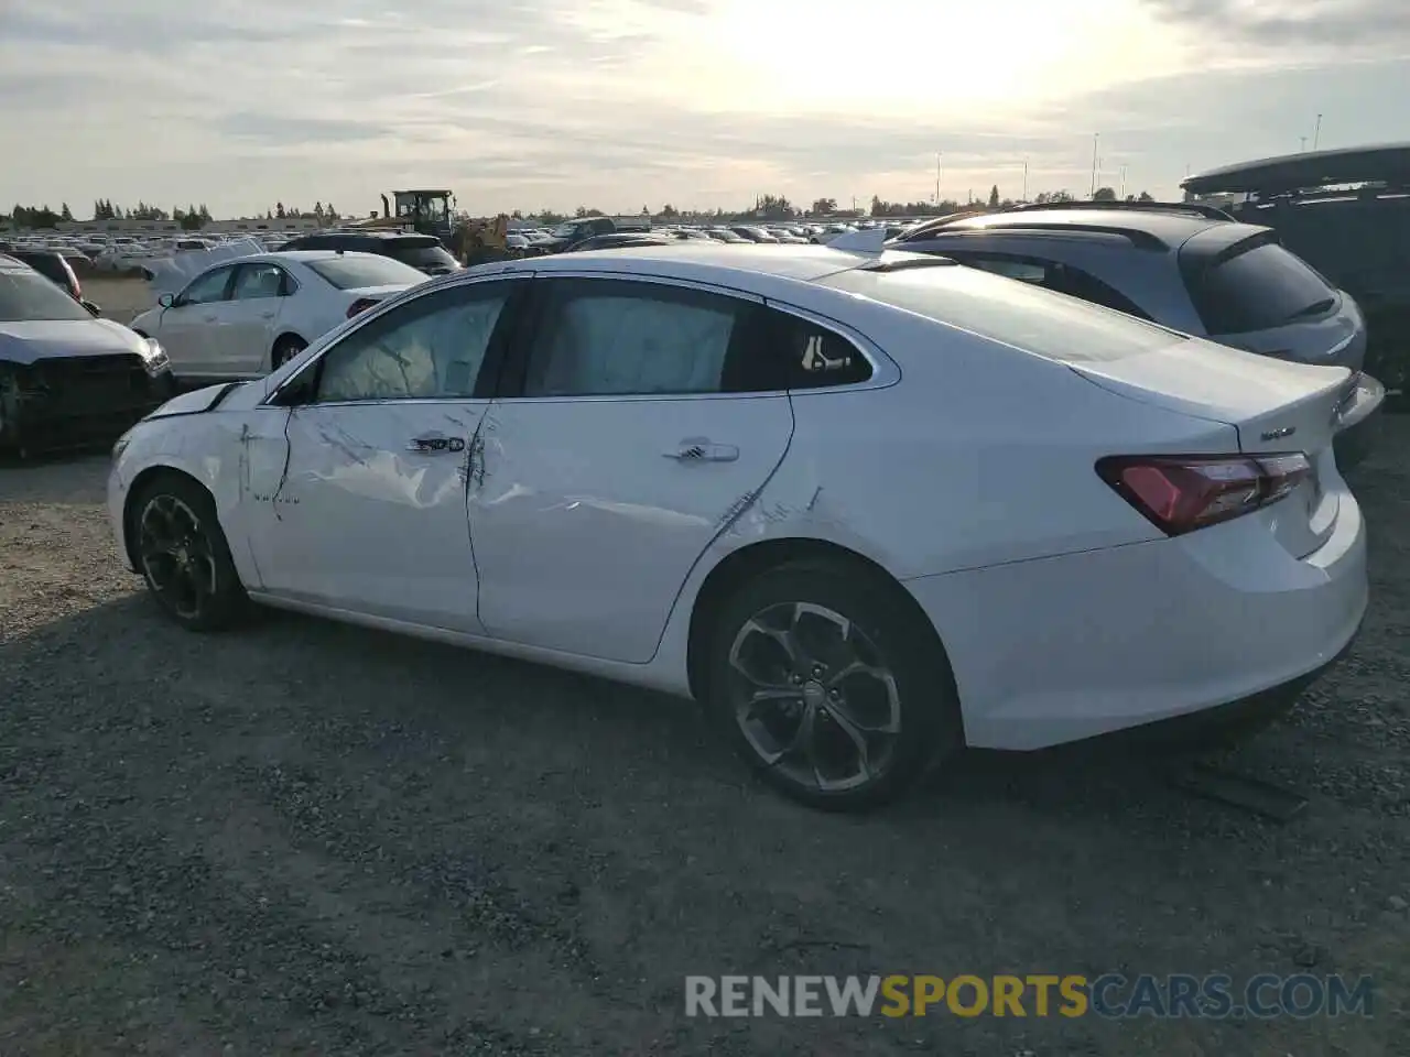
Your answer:
[[[1237,451],[1231,427],[1108,393],[1063,364],[856,299],[901,368],[883,389],[792,395],[783,466],[716,541],[807,536],[901,579],[1160,538],[1103,455]]]

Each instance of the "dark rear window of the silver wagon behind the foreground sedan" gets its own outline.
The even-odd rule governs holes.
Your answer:
[[[1246,334],[1311,319],[1335,307],[1335,292],[1300,258],[1259,242],[1193,275],[1184,285],[1210,334]]]

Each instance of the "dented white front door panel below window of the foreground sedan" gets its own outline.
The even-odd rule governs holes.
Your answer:
[[[481,631],[465,466],[486,404],[292,409],[288,468],[271,495],[257,497],[264,512],[252,545],[265,591]]]

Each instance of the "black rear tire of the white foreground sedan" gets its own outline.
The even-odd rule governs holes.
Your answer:
[[[794,562],[746,583],[716,614],[708,654],[706,709],[735,751],[766,782],[811,808],[878,808],[963,748],[959,698],[943,650],[895,591],[871,571],[847,562]],[[846,640],[833,617],[847,622]],[[774,634],[788,622],[794,624],[794,638],[807,640],[795,653],[785,650]],[[839,668],[847,667],[843,647],[849,641],[857,661],[870,667],[856,669],[857,674],[829,689]],[[732,660],[736,647],[739,665]],[[797,661],[807,655],[816,665],[808,662],[805,681],[799,682]],[[743,675],[744,669],[753,682]],[[876,675],[880,669],[888,672],[888,681]],[[777,700],[753,710],[743,702],[759,686],[770,688],[764,692]],[[787,698],[788,688],[798,688],[792,700]],[[797,724],[792,724],[794,709]],[[812,755],[798,747],[808,713],[812,715],[808,730],[816,736]],[[891,727],[894,733],[887,733]],[[856,748],[859,736],[867,750],[856,751],[856,760],[867,760],[870,767],[857,764],[856,774],[846,778],[843,757],[849,746]],[[770,762],[766,750],[785,744],[788,748]],[[815,765],[818,760],[828,767]],[[823,779],[804,779],[799,771]]]

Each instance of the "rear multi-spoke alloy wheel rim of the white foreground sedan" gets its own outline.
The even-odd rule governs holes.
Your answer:
[[[826,606],[788,602],[746,620],[729,650],[735,722],[766,767],[840,792],[881,778],[901,734],[901,699],[881,651]]]

